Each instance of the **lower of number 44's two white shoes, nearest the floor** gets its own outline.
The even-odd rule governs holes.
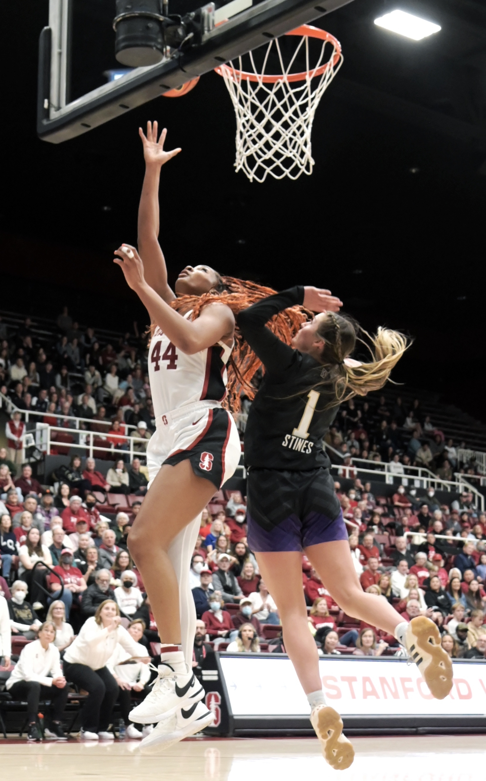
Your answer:
[[[203,702],[187,704],[167,719],[159,722],[150,735],[142,740],[140,748],[144,754],[156,754],[165,751],[185,737],[199,733],[214,722],[214,714]]]

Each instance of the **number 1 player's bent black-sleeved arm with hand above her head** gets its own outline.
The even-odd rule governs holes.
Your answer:
[[[282,293],[262,298],[236,316],[236,323],[243,337],[260,358],[265,369],[270,372],[282,373],[288,369],[295,360],[296,351],[278,339],[275,333],[266,327],[266,323],[278,312],[297,304],[303,304],[313,312],[338,312],[342,306],[341,301],[332,296],[330,291],[296,285]]]

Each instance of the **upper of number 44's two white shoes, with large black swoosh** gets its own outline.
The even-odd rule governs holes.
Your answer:
[[[184,672],[175,672],[168,662],[158,666],[158,677],[155,679],[150,694],[143,702],[133,708],[129,719],[137,724],[153,724],[167,716],[176,713],[179,708],[189,708],[204,697],[204,689],[200,685],[192,669],[184,663]]]

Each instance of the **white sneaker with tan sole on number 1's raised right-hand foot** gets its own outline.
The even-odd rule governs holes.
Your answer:
[[[441,644],[438,626],[425,615],[417,615],[406,629],[406,650],[436,700],[452,689],[452,660]]]

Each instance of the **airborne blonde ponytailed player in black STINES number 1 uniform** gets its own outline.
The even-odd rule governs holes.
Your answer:
[[[290,347],[266,323],[294,305],[318,314],[301,326]],[[353,360],[358,326],[337,313],[341,305],[329,291],[293,287],[236,317],[265,369],[245,430],[248,544],[278,606],[286,651],[307,694],[323,754],[336,769],[349,767],[353,747],[342,735],[339,714],[325,705],[307,626],[303,551],[340,608],[408,648],[431,694],[442,699],[452,686],[452,664],[437,626],[425,616],[407,625],[386,600],[364,592],[353,566],[322,438],[339,403],[383,387],[407,345],[396,331],[380,329],[371,338],[371,362]]]

